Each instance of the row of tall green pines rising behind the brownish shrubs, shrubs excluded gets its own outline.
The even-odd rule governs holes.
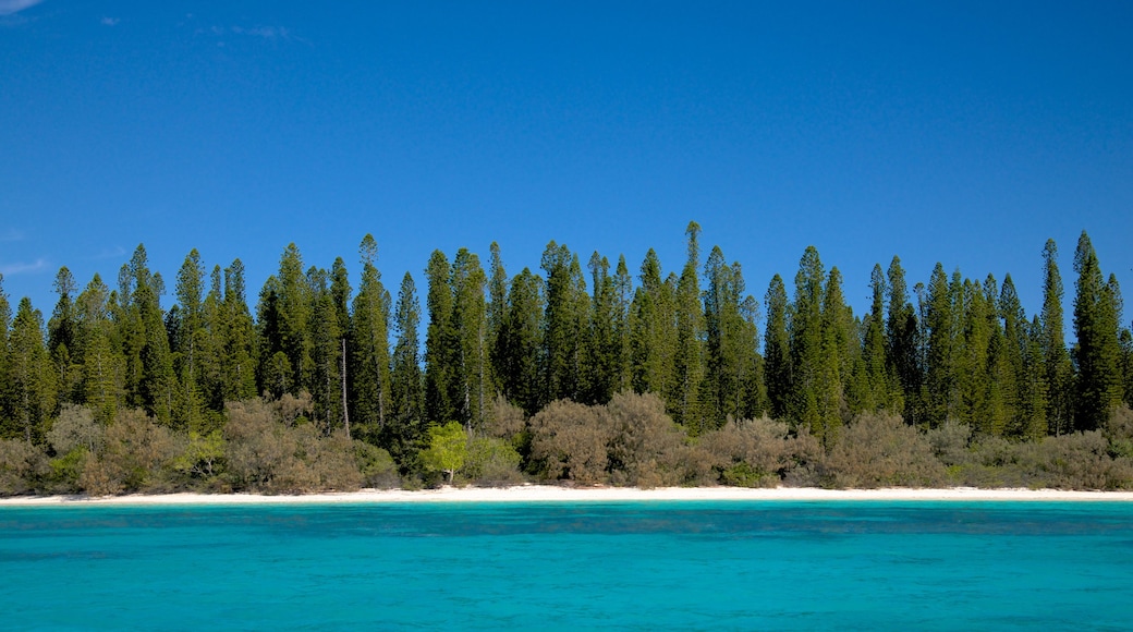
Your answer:
[[[556,400],[651,392],[692,436],[769,416],[827,446],[863,411],[1033,441],[1096,429],[1133,403],[1117,280],[1104,275],[1084,232],[1071,347],[1053,240],[1041,310],[1028,317],[1010,275],[979,281],[937,264],[927,284],[910,288],[897,257],[874,267],[870,309],[855,315],[838,268],[827,271],[813,247],[793,287],[775,275],[760,307],[739,263],[718,247],[701,261],[695,222],[687,238],[685,262],[667,274],[651,249],[632,274],[624,257],[611,264],[597,253],[583,270],[552,241],[540,272],[513,276],[495,244],[487,270],[467,249],[451,259],[435,251],[424,313],[411,274],[395,297],[384,287],[372,236],[357,288],[342,258],[306,267],[288,246],[254,314],[241,262],[206,271],[196,250],[168,310],[142,246],[117,288],[95,275],[79,291],[61,268],[46,322],[26,298],[12,317],[0,285],[0,436],[42,443],[69,403],[103,424],[142,409],[203,435],[224,424],[225,402],[309,394],[310,421],[324,433],[344,428],[400,460],[429,422],[476,429],[499,398],[534,415]]]

